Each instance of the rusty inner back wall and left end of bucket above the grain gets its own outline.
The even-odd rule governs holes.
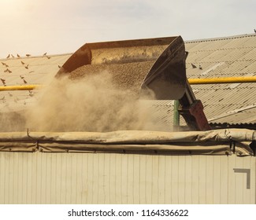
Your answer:
[[[86,43],[63,64],[57,75],[74,71],[87,64],[125,64],[156,61],[176,37],[147,38],[114,42]]]

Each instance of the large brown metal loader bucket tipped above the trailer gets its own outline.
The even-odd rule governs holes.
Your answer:
[[[127,64],[132,68],[127,68]],[[69,57],[57,76],[80,67],[98,68],[99,65],[102,68],[124,65],[124,72],[117,77],[126,78],[121,79],[123,87],[127,89],[132,85],[138,94],[141,88],[143,93],[153,90],[157,99],[179,99],[184,94],[185,50],[180,36],[86,43]],[[128,72],[129,69],[132,72]],[[125,85],[126,82],[129,85]]]

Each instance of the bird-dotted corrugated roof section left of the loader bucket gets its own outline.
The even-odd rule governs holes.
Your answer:
[[[58,69],[71,54],[6,58],[0,60],[0,85],[19,86],[50,83]],[[33,91],[1,91],[0,112],[14,112],[28,108],[37,98]]]

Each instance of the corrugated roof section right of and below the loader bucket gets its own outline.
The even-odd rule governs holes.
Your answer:
[[[256,35],[238,35],[185,42],[187,78],[217,78],[256,75]],[[192,68],[194,64],[197,68]],[[202,70],[199,69],[199,65]],[[212,124],[256,123],[256,83],[191,85],[195,97],[202,101]],[[172,129],[173,105],[154,106],[158,119],[168,119]],[[171,113],[173,115],[173,113]],[[180,119],[185,125],[184,119]],[[165,122],[162,122],[166,125]],[[165,127],[168,130],[168,127]]]

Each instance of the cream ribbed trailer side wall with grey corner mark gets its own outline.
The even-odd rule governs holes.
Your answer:
[[[0,203],[255,203],[255,160],[0,152]]]

